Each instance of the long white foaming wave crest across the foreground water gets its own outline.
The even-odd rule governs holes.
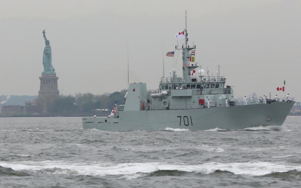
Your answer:
[[[13,170],[38,170],[45,173],[61,173],[73,175],[132,175],[137,173],[182,173],[194,172],[198,174],[212,174],[216,170],[228,171],[236,175],[262,176],[275,172],[288,172],[290,170],[301,170],[301,166],[290,166],[274,164],[269,162],[251,161],[246,163],[205,163],[202,165],[165,164],[165,163],[79,163],[65,161],[20,161],[0,162],[0,166]],[[158,170],[165,170],[159,171]],[[167,171],[166,171],[167,170]],[[137,175],[143,176],[143,175]]]

